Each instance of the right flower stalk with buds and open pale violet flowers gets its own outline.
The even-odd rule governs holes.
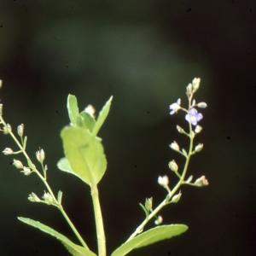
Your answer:
[[[189,108],[188,109],[181,107],[181,99],[180,98],[177,99],[177,102],[174,102],[170,105],[170,109],[171,109],[170,114],[171,115],[174,113],[177,113],[179,110],[183,110],[186,113],[185,119],[189,122],[189,133],[186,133],[183,130],[183,128],[181,128],[179,125],[177,125],[177,131],[179,133],[183,133],[189,137],[189,151],[186,152],[186,150],[183,148],[182,148],[182,150],[180,150],[179,145],[177,144],[176,141],[174,141],[173,143],[170,144],[170,148],[172,148],[174,151],[176,151],[179,154],[183,154],[183,156],[186,159],[184,167],[183,167],[183,172],[181,175],[177,172],[178,166],[177,166],[177,163],[175,160],[172,160],[171,162],[169,162],[169,165],[168,165],[169,168],[172,170],[172,172],[175,172],[177,177],[179,178],[177,184],[174,186],[174,188],[170,189],[168,187],[169,179],[167,176],[164,176],[164,177],[160,176],[158,178],[158,183],[160,183],[160,185],[163,186],[167,190],[168,194],[166,195],[166,199],[164,201],[162,201],[160,203],[160,205],[158,207],[156,207],[154,210],[153,209],[151,210],[151,212],[150,212],[150,214],[148,214],[147,218],[145,218],[144,221],[142,222],[142,224],[140,224],[137,227],[135,232],[133,232],[131,234],[131,236],[128,238],[127,241],[131,241],[132,238],[134,238],[139,233],[141,233],[141,230],[144,229],[145,225],[148,224],[149,220],[151,218],[154,218],[163,207],[165,207],[166,205],[168,205],[170,203],[177,203],[177,201],[180,200],[181,191],[179,190],[179,193],[178,194],[176,194],[176,193],[177,193],[177,190],[180,189],[180,186],[182,184],[189,184],[189,185],[193,185],[193,186],[197,186],[197,187],[208,185],[208,181],[205,176],[202,176],[202,177],[196,179],[195,183],[191,183],[192,176],[190,176],[187,179],[187,181],[185,181],[185,177],[188,172],[189,161],[190,161],[191,156],[195,153],[200,152],[203,148],[203,144],[199,143],[197,146],[195,146],[195,150],[193,150],[195,135],[200,133],[202,130],[201,126],[197,125],[197,123],[201,119],[203,119],[202,114],[198,113],[197,110],[195,109],[195,107],[207,108],[206,102],[201,102],[201,103],[196,104],[195,99],[193,99],[195,91],[199,89],[200,82],[201,82],[201,79],[193,79],[192,84],[189,84],[187,86],[186,94],[187,94],[188,100],[189,100]],[[195,131],[193,131],[192,125],[195,126]],[[158,221],[156,221],[155,224],[158,224]],[[125,241],[125,242],[127,242],[127,241]]]

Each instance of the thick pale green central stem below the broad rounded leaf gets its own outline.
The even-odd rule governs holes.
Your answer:
[[[91,185],[90,194],[93,202],[93,209],[96,221],[96,233],[98,242],[98,256],[106,256],[106,238],[102,219],[102,209],[99,200],[99,191],[96,184]]]

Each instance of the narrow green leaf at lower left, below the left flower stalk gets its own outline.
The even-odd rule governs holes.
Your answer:
[[[59,239],[64,244],[64,246],[67,248],[68,252],[72,253],[74,256],[96,256],[96,254],[91,252],[90,249],[81,247],[81,246],[73,243],[73,241],[70,241],[66,236],[63,236],[61,233],[57,232],[56,230],[53,230],[49,226],[46,226],[46,225],[44,225],[38,221],[35,221],[33,219],[30,219],[30,218],[18,217],[18,219],[20,219],[20,221],[22,221],[26,224],[29,224],[39,230],[44,231],[45,233],[47,233],[51,236],[55,236],[57,239]]]

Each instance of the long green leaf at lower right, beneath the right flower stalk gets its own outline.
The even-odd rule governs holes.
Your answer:
[[[143,232],[142,234],[132,238],[118,247],[111,256],[126,255],[133,249],[146,247],[156,241],[169,239],[172,236],[178,236],[188,230],[188,226],[184,224],[162,225],[154,229]]]

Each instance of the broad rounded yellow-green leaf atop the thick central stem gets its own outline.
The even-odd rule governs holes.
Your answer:
[[[75,173],[85,183],[97,184],[107,169],[102,143],[83,128],[67,126],[61,131],[64,153]]]

